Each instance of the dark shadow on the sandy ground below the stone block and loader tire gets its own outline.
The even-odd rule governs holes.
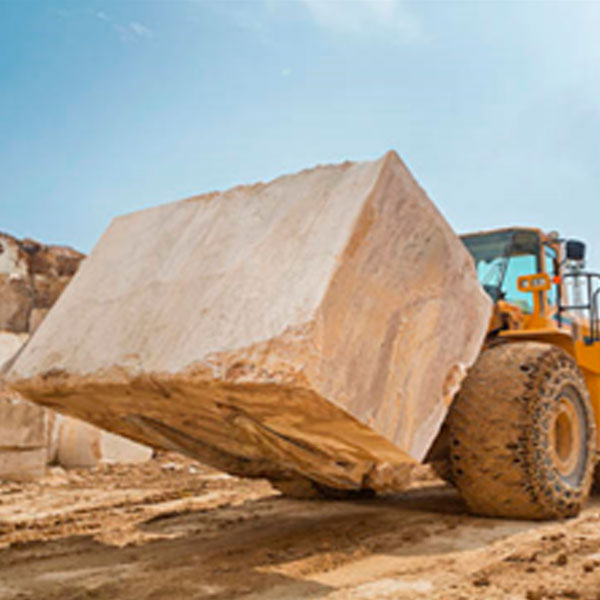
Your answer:
[[[2,597],[225,599],[276,588],[320,598],[314,574],[374,554],[471,550],[536,523],[477,519],[447,486],[353,502],[280,496],[167,514],[140,525],[150,541],[123,548],[86,536],[0,552]]]

